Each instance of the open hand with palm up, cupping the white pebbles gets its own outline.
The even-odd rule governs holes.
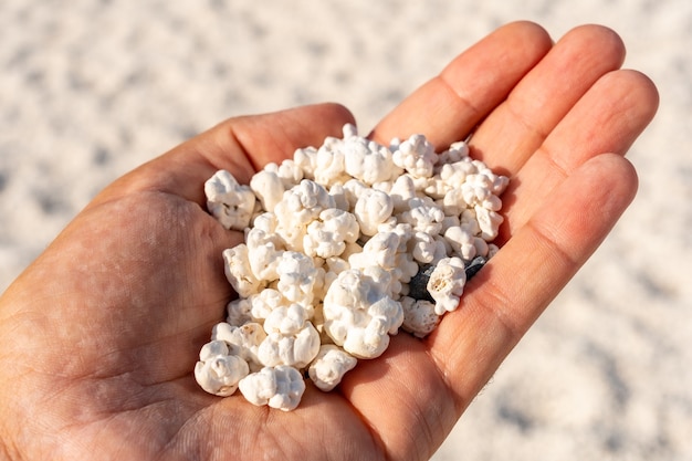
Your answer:
[[[0,459],[428,459],[635,197],[623,155],[658,94],[623,55],[601,27],[553,43],[507,24],[374,128],[438,147],[474,130],[472,155],[511,177],[502,249],[433,334],[395,336],[333,392],[308,384],[292,412],[195,383],[233,295],[220,254],[242,240],[205,211],[202,184],[221,168],[247,184],[353,116],[232,118],[118,179],[0,298]]]

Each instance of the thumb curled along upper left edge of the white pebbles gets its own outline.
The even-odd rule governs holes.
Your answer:
[[[203,184],[216,171],[229,170],[248,184],[268,163],[281,163],[300,147],[319,146],[326,136],[340,137],[346,123],[355,123],[354,117],[337,104],[230,118],[143,165],[98,200],[133,190],[159,190],[202,205]]]

